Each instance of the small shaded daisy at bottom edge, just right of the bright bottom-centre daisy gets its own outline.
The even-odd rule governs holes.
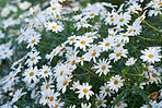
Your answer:
[[[104,100],[104,98],[105,98],[105,95],[103,95],[103,94],[100,94],[100,95],[95,95],[96,96],[96,105],[97,105],[97,108],[100,108],[100,107],[106,107],[106,101],[107,100]]]

